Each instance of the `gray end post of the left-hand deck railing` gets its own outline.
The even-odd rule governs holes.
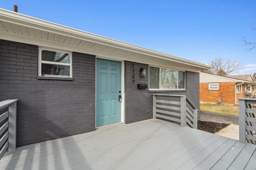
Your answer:
[[[17,102],[9,105],[9,147],[8,151],[16,150],[16,113],[17,113]]]

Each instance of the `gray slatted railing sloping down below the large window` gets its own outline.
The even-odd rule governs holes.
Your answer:
[[[153,119],[167,119],[197,129],[198,109],[185,95],[153,94]]]

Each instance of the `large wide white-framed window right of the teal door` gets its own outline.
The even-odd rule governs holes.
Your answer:
[[[149,66],[150,89],[185,89],[185,71]]]

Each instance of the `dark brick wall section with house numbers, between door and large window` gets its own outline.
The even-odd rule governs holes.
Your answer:
[[[140,77],[141,67],[147,77]],[[138,89],[138,84],[148,84],[148,65],[125,61],[125,123],[152,118],[152,94],[148,88]]]

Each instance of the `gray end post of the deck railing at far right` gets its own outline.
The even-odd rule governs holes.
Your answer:
[[[239,100],[239,142],[246,143],[246,125],[245,125],[245,100]]]

